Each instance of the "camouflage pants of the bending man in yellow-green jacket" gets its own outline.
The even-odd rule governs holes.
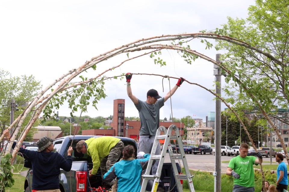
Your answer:
[[[108,156],[102,158],[100,162],[101,177],[117,162],[123,152],[124,144],[119,141],[109,152]],[[107,183],[105,183],[107,184]]]

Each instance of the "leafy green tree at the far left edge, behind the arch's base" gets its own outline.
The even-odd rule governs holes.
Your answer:
[[[40,90],[40,82],[34,76],[11,76],[8,71],[0,69],[0,128],[1,133],[10,125],[11,99],[15,100],[19,111],[14,111],[14,116],[19,116],[25,109],[27,103],[35,98]],[[26,119],[26,123],[28,120]],[[31,141],[36,130],[31,131],[26,141]]]

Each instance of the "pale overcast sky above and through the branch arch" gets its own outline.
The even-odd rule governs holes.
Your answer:
[[[47,86],[68,70],[77,68],[86,60],[103,52],[128,44],[140,38],[157,35],[195,33],[220,28],[227,16],[246,18],[252,0],[222,1],[0,1],[0,68],[12,76],[34,75]],[[196,41],[191,49],[215,58],[217,52],[205,50]],[[211,41],[213,42],[213,41]],[[184,77],[207,88],[213,87],[213,64],[201,59],[192,65],[176,52],[163,50],[167,66],[160,67],[148,57],[134,59],[106,76],[121,73],[154,73]],[[98,66],[96,71],[83,75],[94,77],[109,66],[123,61],[114,58]],[[169,91],[169,81],[157,76],[132,76],[133,94],[145,101],[146,92],[154,88],[160,96]],[[170,80],[171,87],[176,79]],[[224,81],[223,81],[224,84]],[[110,116],[113,100],[125,99],[125,116],[138,116],[138,111],[126,94],[125,81],[111,80],[105,84],[107,98],[98,104],[98,110],[89,107],[82,115]],[[172,116],[194,116],[204,119],[215,111],[213,95],[195,85],[184,83],[172,96]],[[225,106],[222,106],[224,110]],[[69,116],[64,105],[60,116]],[[160,118],[171,114],[170,100],[160,111]],[[74,115],[79,116],[79,113]]]

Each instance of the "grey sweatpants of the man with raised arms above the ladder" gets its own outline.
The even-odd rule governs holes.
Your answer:
[[[139,140],[138,140],[138,153],[139,152],[144,152],[151,154],[151,150],[154,145],[154,136],[144,136],[140,135]],[[160,155],[160,143],[157,144],[157,150],[155,155]],[[155,175],[157,173],[157,166],[159,165],[160,160],[156,160],[155,164],[152,166],[151,173],[152,175]]]

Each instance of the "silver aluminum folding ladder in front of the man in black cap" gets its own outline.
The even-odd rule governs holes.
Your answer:
[[[172,131],[175,132],[176,135],[172,135]],[[161,133],[164,133],[163,135],[161,135]],[[157,144],[159,143],[159,140],[165,140],[164,145],[163,145],[163,150],[161,151],[160,155],[155,155],[156,149],[157,149]],[[176,144],[179,145],[179,152],[180,154],[176,154],[174,155],[174,153],[172,152],[172,146],[170,144],[170,140],[176,140]],[[161,172],[162,172],[162,167],[163,167],[163,162],[165,160],[165,156],[166,156],[166,149],[169,149],[169,157],[172,163],[172,168],[174,171],[174,177],[175,177],[175,181],[176,181],[176,186],[179,192],[182,192],[182,184],[180,180],[187,180],[188,181],[188,185],[189,185],[189,189],[190,192],[194,192],[194,185],[192,182],[192,177],[189,167],[188,167],[188,163],[187,163],[187,159],[185,156],[185,152],[184,152],[184,148],[182,145],[182,139],[180,136],[180,132],[179,129],[177,128],[176,125],[170,125],[168,129],[166,129],[163,126],[160,126],[157,129],[157,134],[155,136],[155,140],[154,140],[154,144],[153,144],[153,148],[151,151],[151,157],[148,161],[148,167],[143,175],[143,181],[141,184],[141,192],[145,192],[145,189],[147,187],[148,181],[149,180],[154,180],[154,184],[153,187],[151,189],[151,192],[156,192],[157,191],[157,186],[159,184],[159,180],[160,180],[160,176],[161,176]],[[177,150],[176,150],[177,152]],[[157,167],[157,173],[156,175],[150,175],[151,172],[151,167],[153,164],[154,160],[160,160],[159,161],[159,165]],[[182,160],[182,164],[185,168],[185,175],[179,175],[178,173],[178,169],[176,166],[176,160]]]

